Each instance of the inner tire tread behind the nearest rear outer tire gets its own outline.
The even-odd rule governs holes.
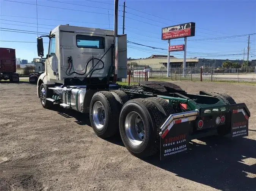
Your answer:
[[[169,117],[170,114],[175,113],[173,107],[163,98],[149,97],[147,99],[150,100],[165,117]]]

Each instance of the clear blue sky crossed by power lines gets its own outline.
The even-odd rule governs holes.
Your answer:
[[[113,29],[114,0],[38,0],[37,3],[39,32],[48,33],[55,26],[67,23],[105,29],[109,29],[110,23],[110,28]],[[122,34],[122,10],[123,0],[119,0],[118,34]],[[17,58],[30,62],[37,57],[37,34],[21,32],[35,33],[36,22],[36,0],[0,0],[0,47],[15,48]],[[127,40],[166,48],[166,51],[163,51],[128,43],[127,57],[143,58],[151,54],[167,54],[167,41],[161,40],[161,28],[187,22],[196,23],[195,37],[187,38],[187,58],[243,59],[243,49],[247,48],[248,35],[214,40],[210,38],[256,33],[256,1],[126,0]],[[23,31],[9,32],[10,29]],[[171,40],[171,45],[179,45],[183,41],[184,39]],[[256,59],[255,34],[250,35],[250,42],[249,60]],[[47,45],[45,48],[47,49]],[[182,58],[183,52],[171,52],[171,55]]]

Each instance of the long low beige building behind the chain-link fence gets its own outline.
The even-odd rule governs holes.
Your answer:
[[[204,58],[187,58],[186,67],[187,68],[199,68],[201,66],[205,68],[215,68],[221,67],[222,63],[227,60],[221,59],[204,59]],[[236,62],[242,65],[243,60],[229,60],[230,62]],[[132,67],[147,67],[154,69],[167,68],[167,55],[155,55],[152,54],[148,58],[144,59],[128,59],[128,68]],[[183,59],[178,59],[170,55],[170,68],[180,68],[182,67]]]

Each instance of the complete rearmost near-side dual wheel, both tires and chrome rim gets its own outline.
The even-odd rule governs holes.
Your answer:
[[[159,128],[171,114],[165,102],[162,98],[151,98],[133,99],[124,104],[119,131],[124,145],[134,156],[144,158],[159,151]]]

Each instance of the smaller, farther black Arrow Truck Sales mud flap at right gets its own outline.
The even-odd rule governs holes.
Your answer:
[[[231,139],[248,136],[250,111],[245,103],[230,105]]]

